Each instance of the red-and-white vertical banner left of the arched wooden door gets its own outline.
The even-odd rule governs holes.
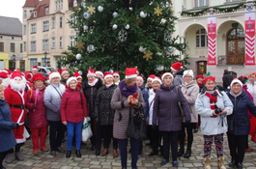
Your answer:
[[[216,17],[208,17],[208,65],[216,65]]]

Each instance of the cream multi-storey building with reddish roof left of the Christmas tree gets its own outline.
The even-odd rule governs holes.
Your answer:
[[[57,69],[62,52],[74,45],[76,32],[68,23],[72,6],[72,0],[26,0],[22,38],[28,70],[35,65]]]

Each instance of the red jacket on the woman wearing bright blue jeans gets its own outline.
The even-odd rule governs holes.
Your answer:
[[[78,87],[75,90],[70,87],[66,89],[61,100],[62,122],[79,123],[87,117],[87,103],[82,91],[81,96],[82,101]]]

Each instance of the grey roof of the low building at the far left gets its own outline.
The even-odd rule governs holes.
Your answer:
[[[22,23],[18,18],[0,16],[0,34],[22,36]]]

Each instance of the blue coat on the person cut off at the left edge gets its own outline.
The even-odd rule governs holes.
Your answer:
[[[0,153],[9,151],[16,145],[12,123],[11,110],[7,102],[0,99]]]

